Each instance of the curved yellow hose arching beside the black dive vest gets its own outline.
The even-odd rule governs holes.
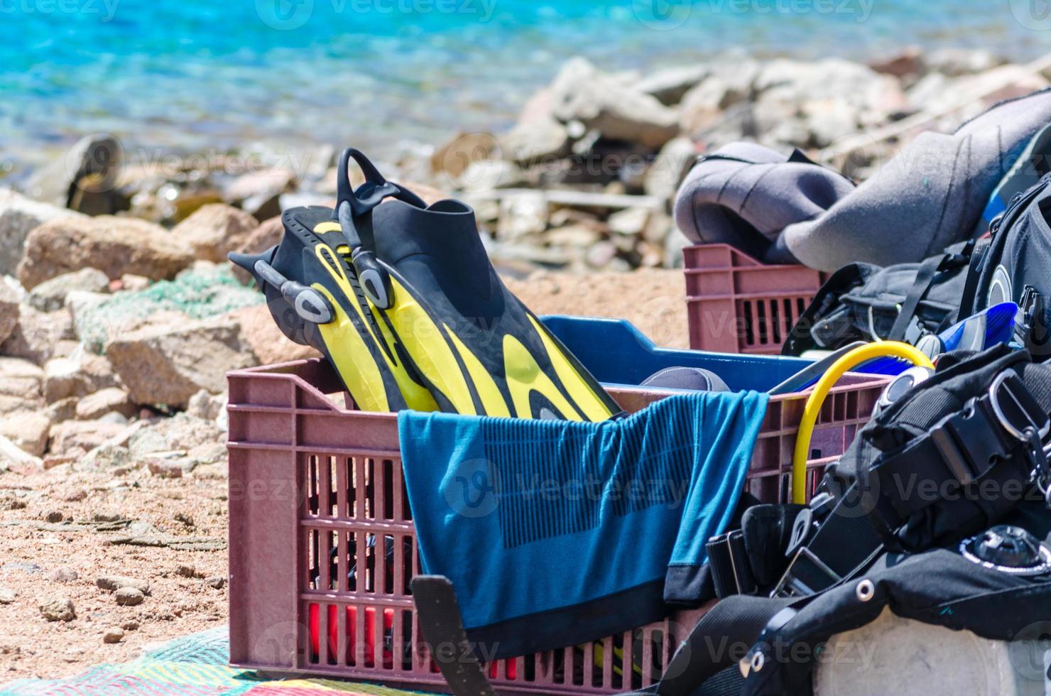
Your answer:
[[[810,438],[813,436],[813,426],[818,422],[821,405],[825,396],[843,374],[862,363],[873,357],[900,357],[920,367],[934,369],[934,364],[926,354],[899,341],[880,341],[854,348],[846,355],[832,363],[828,371],[815,385],[813,391],[803,407],[803,419],[799,424],[799,436],[796,439],[796,451],[791,460],[791,501],[806,504],[806,460],[810,453]]]

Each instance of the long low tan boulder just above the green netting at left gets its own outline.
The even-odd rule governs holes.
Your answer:
[[[160,225],[112,216],[60,218],[29,233],[18,278],[27,290],[88,267],[114,280],[124,273],[161,280],[173,278],[191,263],[192,249]]]

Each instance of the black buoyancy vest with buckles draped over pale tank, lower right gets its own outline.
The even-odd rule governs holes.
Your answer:
[[[721,601],[646,693],[809,693],[824,641],[888,606],[996,640],[1051,620],[1049,413],[1051,365],[1004,345],[942,355],[809,506],[755,506],[710,540]]]

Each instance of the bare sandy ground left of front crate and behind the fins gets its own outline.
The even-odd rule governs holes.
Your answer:
[[[508,285],[537,314],[625,318],[658,344],[686,345],[681,271],[541,272]],[[130,660],[147,646],[225,623],[223,473],[0,473],[0,683]],[[143,536],[164,546],[138,546]],[[97,587],[111,575],[148,581],[149,594],[120,606]],[[40,606],[55,595],[71,600],[76,618],[44,618]],[[115,630],[120,641],[104,642]]]

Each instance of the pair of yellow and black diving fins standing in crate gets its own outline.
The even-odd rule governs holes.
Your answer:
[[[365,175],[356,190],[350,160]],[[337,175],[334,210],[286,210],[281,244],[229,258],[358,409],[590,422],[620,411],[500,282],[470,206],[429,206],[353,148]]]

